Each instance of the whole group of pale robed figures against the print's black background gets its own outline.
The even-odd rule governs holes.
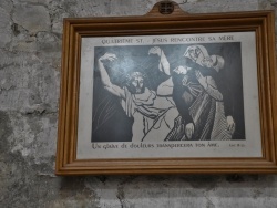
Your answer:
[[[105,63],[120,62],[116,54],[98,59],[102,87],[120,98],[127,117],[133,118],[132,142],[227,141],[235,132],[228,87],[218,75],[225,60],[208,54],[203,45],[189,45],[182,64],[172,67],[160,46],[148,49],[157,56],[157,69],[166,79],[156,90],[145,84],[146,74],[133,71],[124,85],[114,84]]]

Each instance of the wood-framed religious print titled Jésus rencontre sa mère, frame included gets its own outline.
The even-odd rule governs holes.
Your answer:
[[[274,12],[172,6],[64,20],[57,175],[277,173]]]

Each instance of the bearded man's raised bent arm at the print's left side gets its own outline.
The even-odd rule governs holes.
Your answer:
[[[98,62],[99,62],[100,76],[105,90],[107,90],[113,95],[125,98],[124,90],[111,82],[110,76],[102,62],[103,60],[114,61],[116,59],[117,59],[116,55],[112,53],[105,53],[103,56],[99,59]]]

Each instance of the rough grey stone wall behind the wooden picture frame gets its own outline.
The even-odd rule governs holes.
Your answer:
[[[62,19],[142,15],[155,2],[0,1],[0,207],[276,207],[274,175],[54,175]],[[176,2],[189,13],[277,9],[276,0]]]

